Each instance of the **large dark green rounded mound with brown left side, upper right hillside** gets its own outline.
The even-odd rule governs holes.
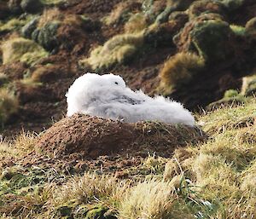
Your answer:
[[[234,52],[234,34],[218,14],[201,14],[189,21],[174,42],[179,50],[194,51],[210,63],[224,61]]]

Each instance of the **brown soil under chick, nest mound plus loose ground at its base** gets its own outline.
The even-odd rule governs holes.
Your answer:
[[[39,135],[32,153],[24,158],[5,158],[0,168],[18,164],[53,168],[65,174],[96,171],[114,173],[117,178],[146,176],[150,169],[143,162],[148,155],[170,158],[175,150],[187,154],[183,147],[188,143],[196,145],[206,140],[207,135],[200,129],[184,125],[125,124],[75,114]]]

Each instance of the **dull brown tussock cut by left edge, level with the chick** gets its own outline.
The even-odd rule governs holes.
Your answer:
[[[0,89],[0,123],[6,123],[18,109],[19,103],[15,95],[7,89]]]

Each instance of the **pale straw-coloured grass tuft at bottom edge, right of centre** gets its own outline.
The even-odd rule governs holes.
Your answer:
[[[120,218],[170,218],[175,196],[170,182],[141,182],[125,194],[119,208]]]

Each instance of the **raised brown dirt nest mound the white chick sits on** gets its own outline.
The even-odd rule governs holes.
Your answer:
[[[73,153],[79,153],[82,158],[97,158],[113,153],[144,153],[147,156],[151,152],[169,156],[176,147],[203,139],[200,130],[184,125],[156,122],[126,124],[75,114],[71,118],[61,119],[46,130],[39,138],[37,147],[55,158]]]

